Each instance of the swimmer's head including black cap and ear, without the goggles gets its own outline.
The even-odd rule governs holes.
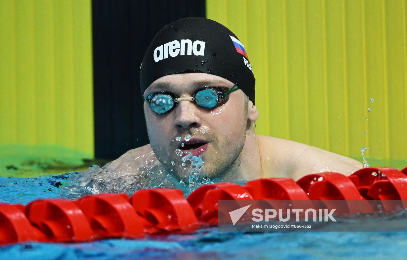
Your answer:
[[[202,170],[211,178],[223,177],[238,166],[247,136],[254,135],[252,122],[258,118],[254,84],[243,44],[223,25],[206,18],[184,18],[165,26],[151,42],[140,72],[144,98],[166,92],[179,99],[164,114],[144,102],[150,143],[164,167],[178,179],[188,179],[190,165],[180,167],[182,156],[176,149],[200,156]],[[234,85],[239,89],[228,91]],[[219,90],[220,96],[227,93],[223,102],[203,107],[191,100],[208,87]],[[191,139],[186,142],[188,134]],[[182,140],[177,141],[177,136]]]

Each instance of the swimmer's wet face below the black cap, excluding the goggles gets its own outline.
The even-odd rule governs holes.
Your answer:
[[[190,97],[204,86],[231,88],[233,85],[226,79],[206,73],[174,74],[154,81],[144,92],[144,97],[160,91]],[[210,178],[222,177],[231,165],[239,164],[248,125],[247,99],[242,90],[232,92],[226,103],[213,109],[200,107],[194,101],[179,101],[167,114],[156,114],[144,102],[144,115],[155,155],[178,179],[188,180],[190,163],[181,166],[181,158],[188,151],[204,160],[202,171]],[[191,135],[188,142],[184,140],[187,134]],[[177,136],[182,140],[177,141]],[[184,154],[177,155],[176,149],[181,149]]]

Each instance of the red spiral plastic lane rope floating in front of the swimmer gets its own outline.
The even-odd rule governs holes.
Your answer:
[[[377,200],[384,210],[390,211],[400,206],[407,208],[407,167],[401,171],[364,168],[348,177],[317,173],[296,182],[289,178],[269,178],[248,181],[245,186],[228,182],[206,184],[186,199],[181,190],[155,188],[138,190],[131,197],[97,194],[77,201],[39,199],[25,207],[0,203],[0,245],[194,232],[203,225],[218,223],[219,200],[236,203],[267,200],[274,207],[278,205],[273,201],[279,200],[304,203],[318,200],[328,208],[335,208],[335,203],[343,201],[348,206],[341,207],[346,209],[346,214],[373,212],[367,200]]]

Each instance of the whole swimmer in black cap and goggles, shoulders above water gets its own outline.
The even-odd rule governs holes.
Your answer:
[[[238,37],[218,22],[188,17],[164,26],[140,67],[150,143],[105,169],[137,175],[146,165],[159,166],[187,182],[189,172],[180,166],[177,149],[201,157],[202,171],[224,181],[297,180],[328,171],[350,175],[362,168],[342,155],[256,134],[254,72]]]

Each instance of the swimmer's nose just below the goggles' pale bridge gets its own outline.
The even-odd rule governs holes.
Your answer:
[[[193,127],[199,127],[199,108],[191,101],[179,101],[175,107],[174,127],[178,131],[185,131]]]

